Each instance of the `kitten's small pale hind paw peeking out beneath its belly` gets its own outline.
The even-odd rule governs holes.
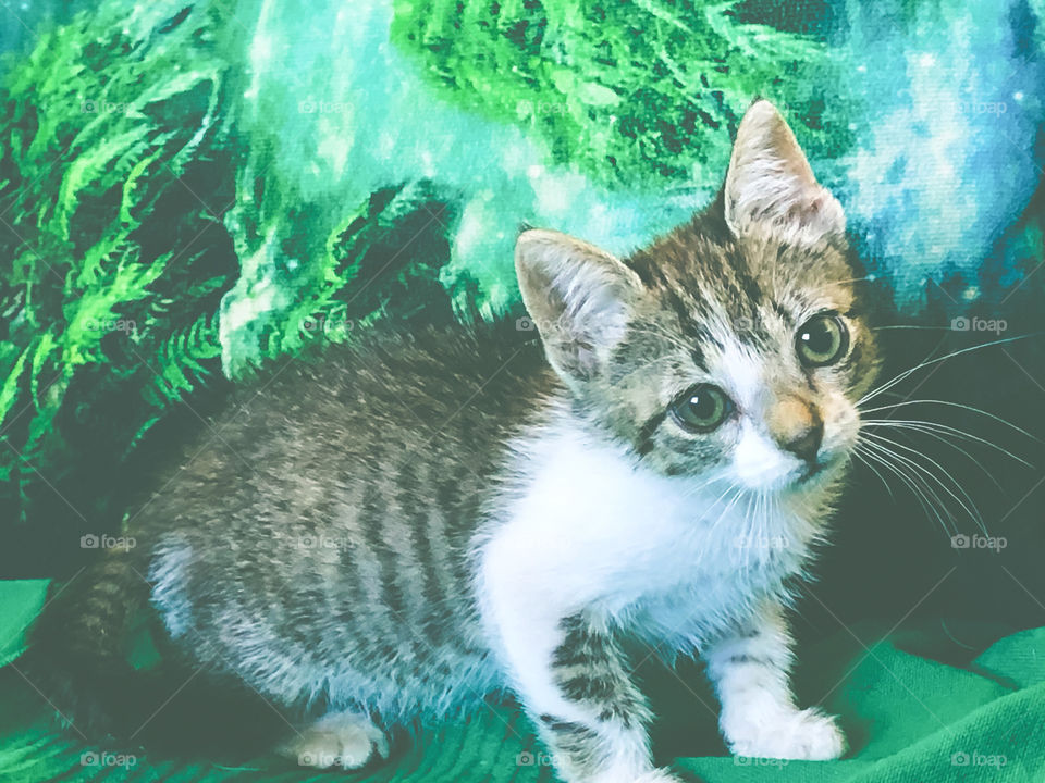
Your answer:
[[[335,713],[320,718],[280,747],[280,753],[302,767],[358,769],[374,755],[388,758],[389,739],[365,716]]]

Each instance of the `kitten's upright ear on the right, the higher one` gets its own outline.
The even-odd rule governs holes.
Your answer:
[[[735,236],[767,231],[815,241],[846,231],[841,204],[816,182],[795,134],[766,100],[740,121],[723,195]]]

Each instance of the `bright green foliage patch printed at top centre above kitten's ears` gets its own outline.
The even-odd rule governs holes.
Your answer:
[[[813,154],[849,141],[825,135],[823,42],[746,21],[738,5],[396,0],[392,38],[454,100],[543,138],[555,163],[603,184],[714,186],[725,130],[752,96],[789,109]]]

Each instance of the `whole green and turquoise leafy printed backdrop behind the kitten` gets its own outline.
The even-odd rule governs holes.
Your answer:
[[[888,5],[109,0],[38,24],[0,87],[4,523],[113,513],[207,377],[511,309],[520,224],[620,252],[668,229],[755,95],[901,309],[930,281],[975,304],[992,252],[997,283],[1042,254],[1038,215],[997,247],[1040,177],[1038,20]]]

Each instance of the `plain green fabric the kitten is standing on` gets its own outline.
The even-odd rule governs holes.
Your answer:
[[[0,649],[17,649],[26,619],[41,606],[44,584],[0,582]],[[694,666],[678,673],[640,667],[659,714],[654,750],[671,751],[680,772],[709,783],[929,783],[1045,780],[1045,629],[998,641],[966,669],[909,651],[932,637],[895,634],[874,644],[872,625],[841,631],[802,650],[797,687],[837,712],[853,753],[841,761],[778,761],[724,755],[714,700]],[[866,646],[864,646],[866,644]],[[275,758],[235,769],[118,756],[60,735],[39,694],[17,671],[0,669],[0,780],[26,783],[60,774],[88,781],[300,781],[316,775]],[[706,707],[704,706],[706,705]],[[704,750],[709,748],[709,750]],[[708,754],[700,755],[697,754]],[[711,755],[714,754],[714,755]],[[104,759],[99,763],[99,759]],[[509,706],[491,707],[435,729],[359,781],[549,781],[548,757],[532,726]]]

